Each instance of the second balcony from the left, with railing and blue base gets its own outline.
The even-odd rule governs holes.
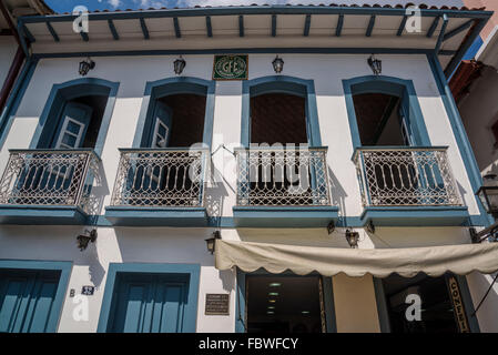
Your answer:
[[[105,217],[113,225],[206,224],[207,150],[121,149]]]

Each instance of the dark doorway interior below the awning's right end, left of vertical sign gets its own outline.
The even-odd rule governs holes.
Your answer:
[[[383,280],[384,293],[393,333],[457,333],[454,306],[444,276],[430,277],[418,274],[406,278],[393,274]],[[408,294],[421,300],[420,321],[409,322],[405,303]]]

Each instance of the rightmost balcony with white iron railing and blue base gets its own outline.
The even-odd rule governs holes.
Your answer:
[[[354,162],[364,224],[427,226],[467,221],[447,148],[360,148]]]

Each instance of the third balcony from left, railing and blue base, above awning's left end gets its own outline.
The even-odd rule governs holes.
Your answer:
[[[337,220],[326,148],[236,150],[237,226],[318,227]]]

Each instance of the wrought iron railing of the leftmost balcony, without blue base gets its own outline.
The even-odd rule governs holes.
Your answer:
[[[89,212],[99,158],[92,150],[11,150],[0,204],[78,206]]]

